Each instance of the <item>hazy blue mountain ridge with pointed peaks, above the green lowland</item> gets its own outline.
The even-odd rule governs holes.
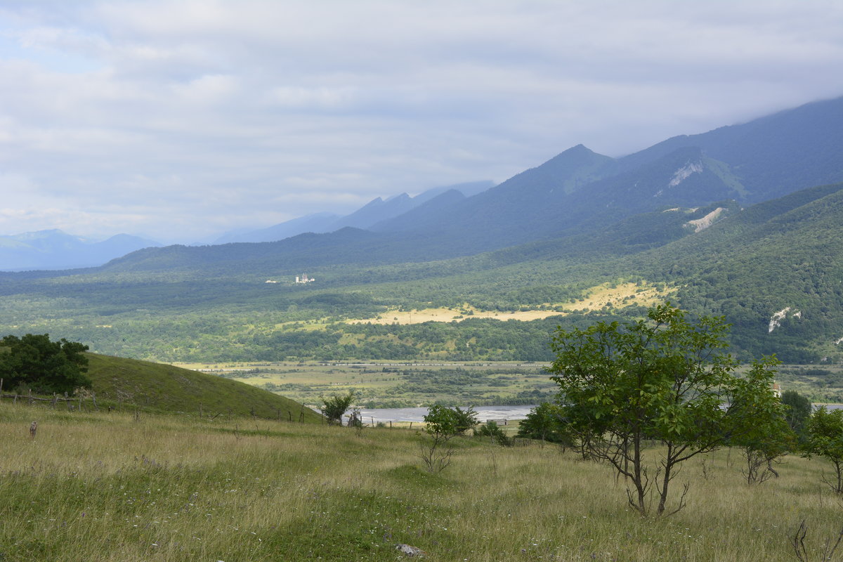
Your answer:
[[[539,240],[583,244],[584,236],[643,213],[717,201],[745,206],[840,181],[843,98],[743,125],[676,136],[624,158],[609,158],[578,145],[469,197],[455,189],[440,190],[415,199],[407,195],[377,199],[342,219],[296,219],[295,228],[287,232],[312,222],[322,226],[274,245],[148,249],[108,267],[150,270],[158,268],[159,260],[166,269],[173,254],[184,265],[230,265],[270,256],[295,267],[385,264],[443,260]],[[411,209],[399,212],[411,203]],[[328,222],[334,226],[325,227]],[[275,236],[281,235],[284,225],[292,226],[272,227],[277,229]],[[321,230],[325,233],[318,233]],[[257,231],[254,238],[275,238],[265,234]]]

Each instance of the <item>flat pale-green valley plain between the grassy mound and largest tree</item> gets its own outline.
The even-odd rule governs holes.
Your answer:
[[[266,388],[306,404],[353,391],[369,408],[436,402],[451,405],[537,404],[556,393],[538,363],[272,362],[180,363],[199,371]]]

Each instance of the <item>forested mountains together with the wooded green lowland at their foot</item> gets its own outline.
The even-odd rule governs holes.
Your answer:
[[[99,351],[183,361],[535,361],[549,353],[536,334],[555,324],[640,317],[635,293],[562,306],[632,283],[726,316],[743,356],[843,361],[843,98],[624,158],[578,145],[485,187],[376,199],[249,234],[295,233],[276,241],[139,249],[72,276],[2,274],[2,329],[59,325]],[[293,283],[302,273],[317,281]],[[436,307],[564,316],[347,324]]]

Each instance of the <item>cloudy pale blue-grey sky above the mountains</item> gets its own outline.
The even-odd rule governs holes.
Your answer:
[[[841,95],[839,0],[0,0],[0,235],[209,241]]]

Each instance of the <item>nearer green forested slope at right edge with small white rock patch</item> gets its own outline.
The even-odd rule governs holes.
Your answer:
[[[619,264],[723,314],[744,349],[819,361],[843,338],[843,184],[799,191]]]

